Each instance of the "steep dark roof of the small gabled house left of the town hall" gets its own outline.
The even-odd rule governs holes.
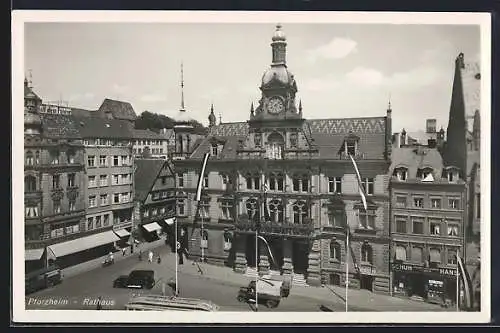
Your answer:
[[[166,163],[162,159],[136,159],[134,173],[135,199],[144,201],[154,185],[161,168]]]

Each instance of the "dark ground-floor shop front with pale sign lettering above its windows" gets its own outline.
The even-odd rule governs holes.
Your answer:
[[[457,271],[454,268],[393,263],[391,271],[393,295],[418,296],[438,304],[456,300]]]

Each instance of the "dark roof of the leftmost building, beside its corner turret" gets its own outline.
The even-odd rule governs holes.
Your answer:
[[[41,113],[43,135],[47,138],[80,139],[78,122],[71,115]]]

